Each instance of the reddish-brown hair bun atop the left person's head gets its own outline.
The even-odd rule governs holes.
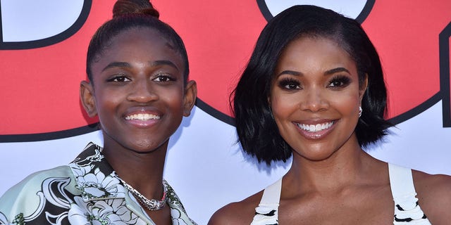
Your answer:
[[[130,15],[144,14],[159,18],[160,13],[156,11],[149,0],[118,0],[113,6],[113,18]]]

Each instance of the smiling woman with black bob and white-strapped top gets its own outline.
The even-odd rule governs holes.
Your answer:
[[[359,23],[316,6],[283,11],[260,34],[234,110],[247,153],[268,165],[292,155],[292,166],[209,224],[450,224],[450,176],[362,150],[387,133],[385,108],[381,63]]]

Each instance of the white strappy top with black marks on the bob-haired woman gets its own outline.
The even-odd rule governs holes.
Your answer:
[[[388,164],[390,188],[395,203],[394,225],[431,225],[416,198],[412,170]],[[278,207],[282,179],[268,186],[261,197],[251,225],[278,224]]]

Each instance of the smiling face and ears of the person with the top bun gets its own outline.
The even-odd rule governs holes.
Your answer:
[[[80,89],[87,113],[99,116],[105,148],[166,148],[196,98],[195,83],[184,85],[183,68],[159,32],[135,28],[113,37],[92,63],[92,82]]]

